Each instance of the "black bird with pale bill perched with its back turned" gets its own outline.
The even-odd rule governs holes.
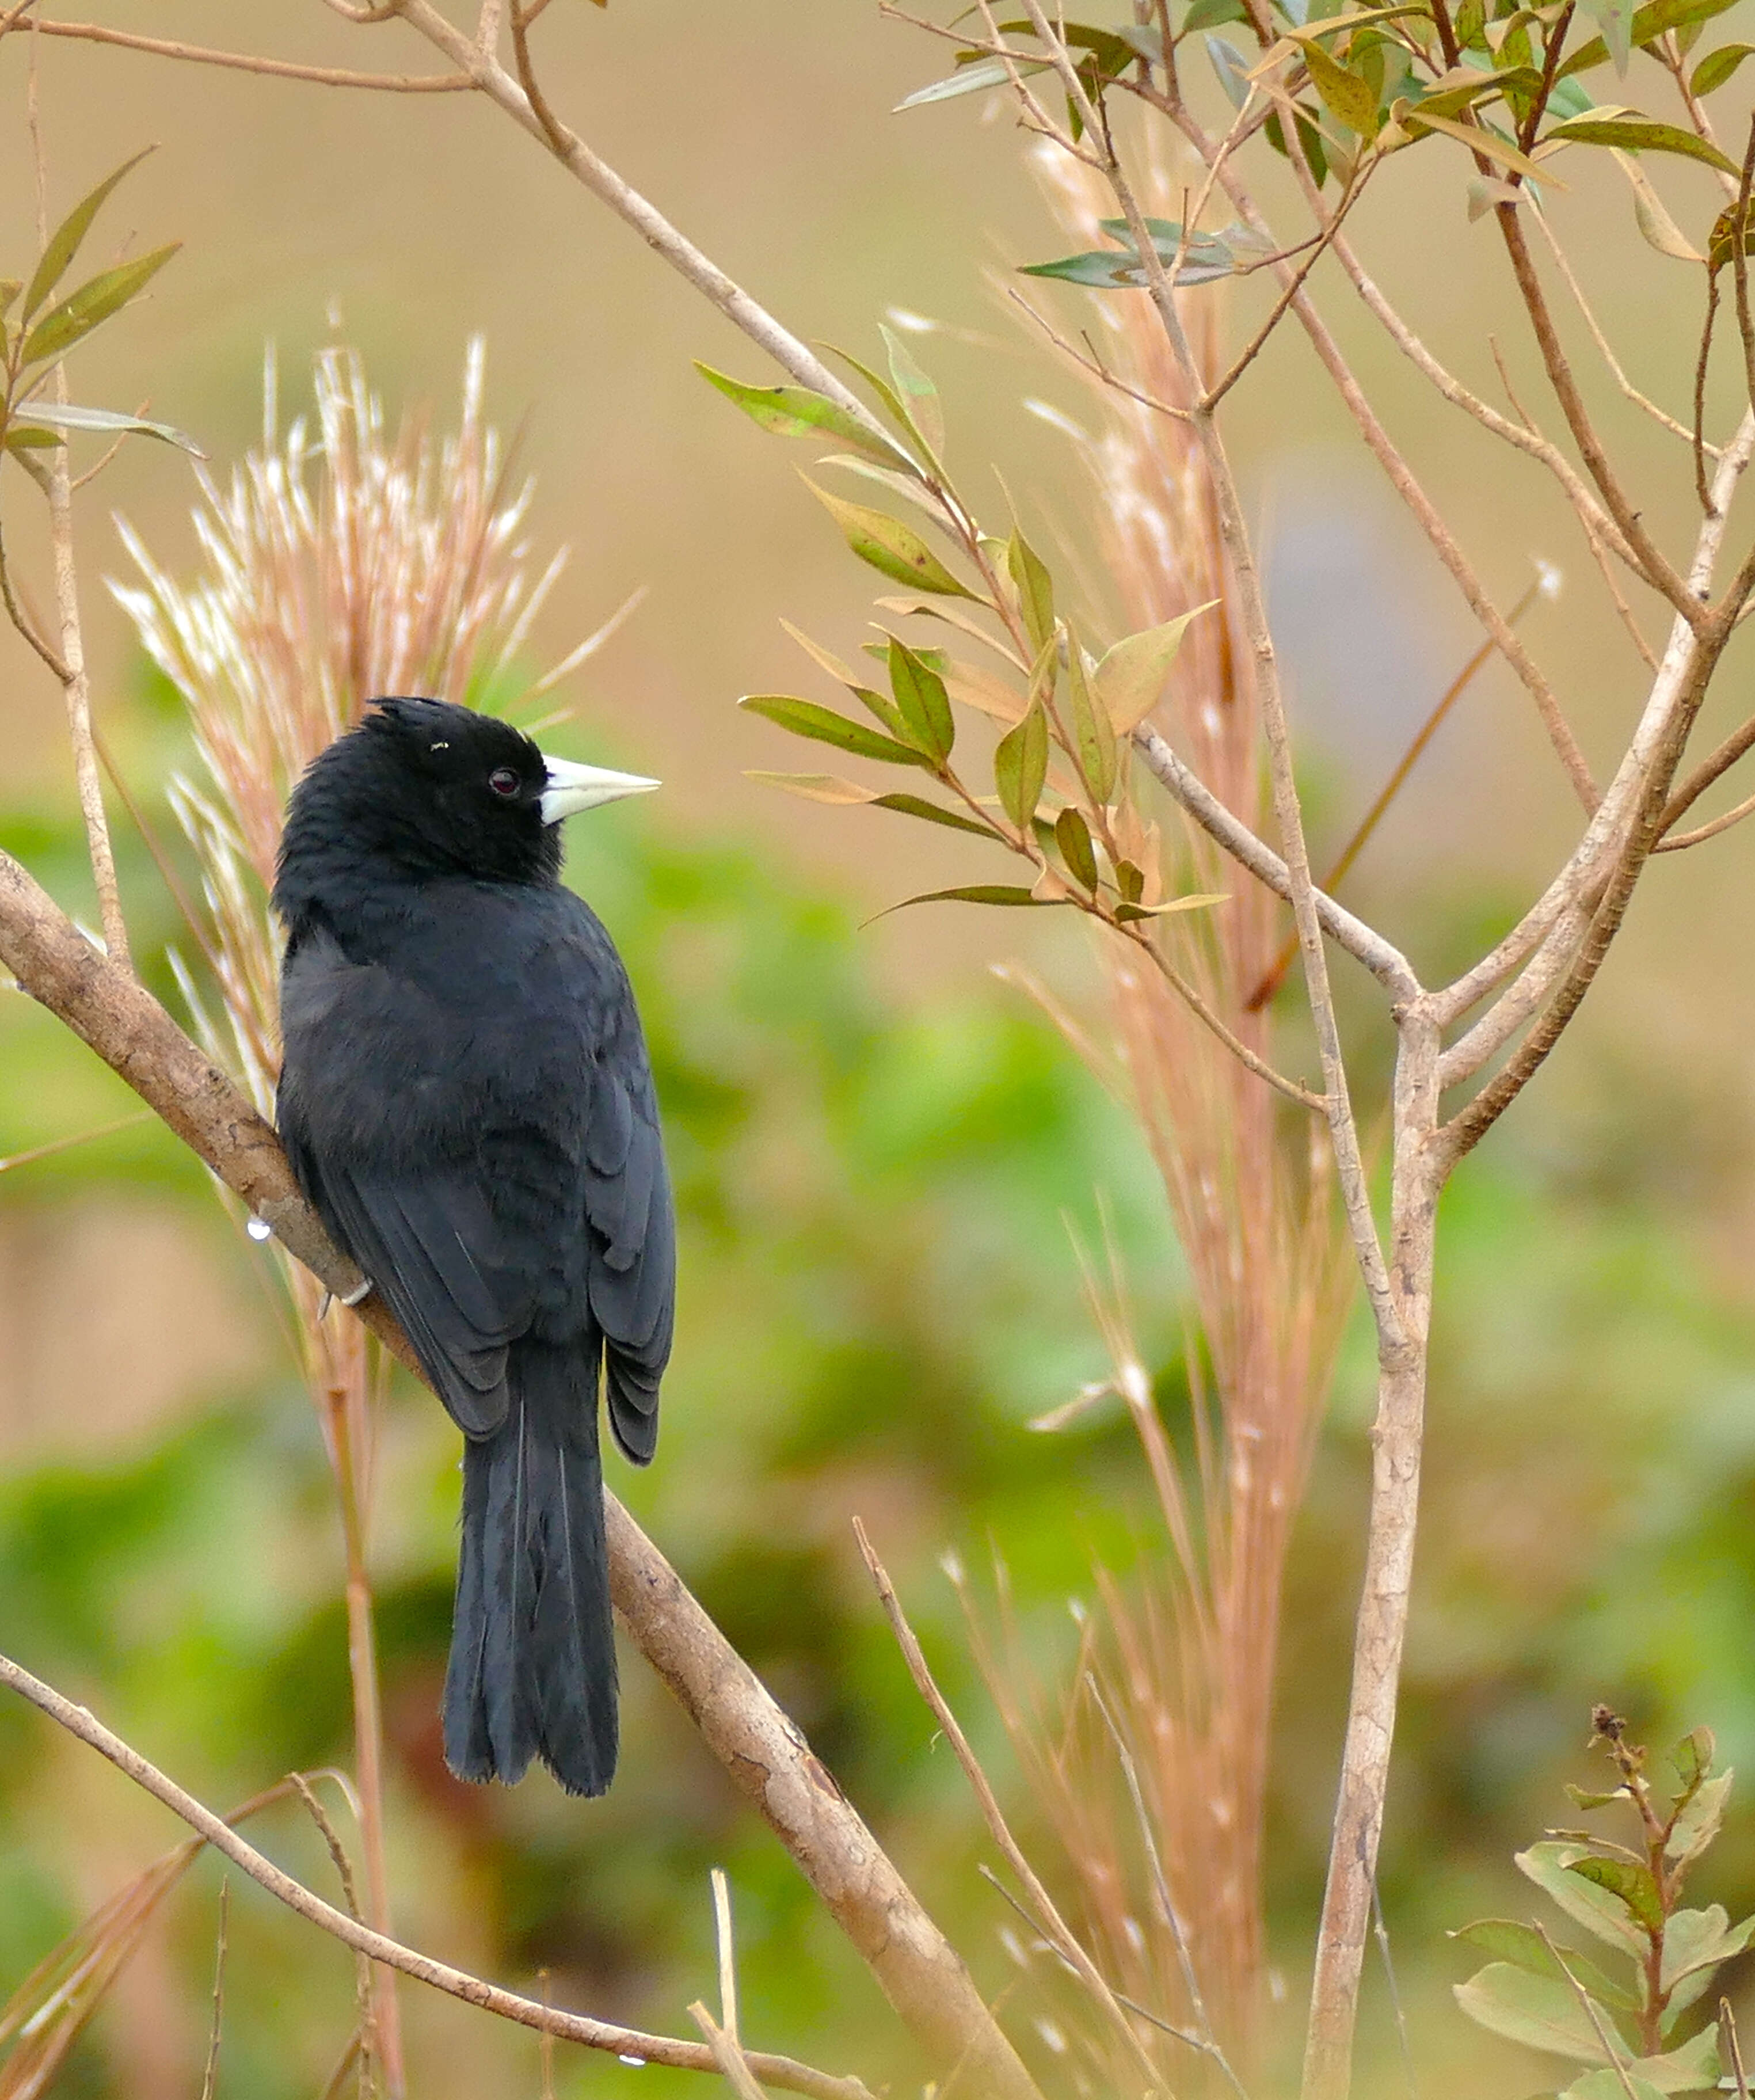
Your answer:
[[[464,1432],[445,1760],[615,1774],[598,1384],[657,1443],[676,1235],[628,972],[561,819],[657,781],[378,701],[288,806],[277,1121],[292,1172]]]

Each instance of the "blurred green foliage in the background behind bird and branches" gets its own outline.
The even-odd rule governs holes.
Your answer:
[[[139,739],[139,769],[162,771],[170,724],[143,710]],[[80,897],[69,823],[0,813],[0,842]],[[176,937],[174,914],[136,842],[124,844],[151,956]],[[684,840],[644,811],[573,825],[569,844],[571,876],[642,1000],[684,1226],[659,1460],[613,1485],[997,1993],[1014,1970],[1006,1913],[974,1873],[985,1844],[882,1630],[850,1516],[890,1560],[1003,1779],[934,1562],[953,1546],[980,1569],[997,1550],[1052,1680],[1073,1634],[1066,1600],[1087,1590],[1094,1558],[1125,1569],[1157,1550],[1117,1415],[1058,1436],[1027,1428],[1102,1369],[1069,1239],[1069,1224],[1098,1239],[1100,1199],[1161,1403],[1173,1424],[1186,1415],[1180,1262],[1153,1168],[1121,1109],[1016,995],[884,1000],[848,909],[770,848]],[[1077,974],[1077,943],[1062,960]],[[126,1113],[124,1090],[17,995],[0,995],[0,1153]],[[1671,1105],[1677,1147],[1692,1142],[1700,1168],[1658,1176],[1654,1197],[1644,1161],[1619,1157],[1637,1142],[1616,1134],[1623,1102],[1608,1088],[1600,1107],[1574,1092],[1556,1109],[1537,1090],[1446,1203],[1383,1873],[1434,2092],[1520,2090],[1509,2048],[1467,2031],[1449,1999],[1467,1961],[1442,1932],[1522,1915],[1509,1854],[1549,1812],[1558,1774],[1583,1777],[1591,1701],[1658,1737],[1707,1720],[1726,1756],[1755,1751],[1755,1321],[1703,1256],[1700,1220],[1717,1201],[1707,1126]],[[252,1317],[273,1367],[189,1394],[120,1445],[69,1434],[19,1449],[0,1485],[0,1638],[206,1800],[231,1804],[292,1766],[348,1758],[340,1541],[317,1424],[260,1289],[267,1262],[187,1155],[145,1124],[0,1176],[15,1233],[46,1231],[67,1205],[141,1199],[187,1218],[237,1300],[262,1308]],[[153,1348],[153,1308],[141,1306],[143,1359]],[[1356,1340],[1287,1609],[1270,1909],[1291,2014],[1327,1842],[1367,1413]],[[894,2029],[861,1964],[638,1659],[626,1667],[623,1777],[607,1802],[565,1802],[540,1779],[477,1791],[443,1772],[435,1709],[456,1462],[441,1411],[393,1390],[374,1560],[403,1932],[525,1987],[546,1970],[556,2001],[686,2031],[682,2008],[712,1974],[707,1867],[724,1865],[745,2033],[833,2068],[898,2075]],[[1018,1812],[1029,1829],[1029,1806]],[[174,1835],[84,1749],[0,1707],[0,1991]],[[258,1842],[330,1890],[321,1846],[290,1810],[273,1810]],[[1749,1907],[1755,1844],[1736,1819],[1700,1882],[1705,1898]],[[214,1886],[204,1863],[172,1900],[168,1953],[151,1972],[153,2018],[189,2081],[206,2043]],[[250,1888],[233,1890],[231,1909],[220,2092],[317,2092],[351,2022],[348,1964]],[[1371,1993],[1365,2077],[1400,2090],[1375,1978]],[[141,2018],[130,2003],[101,2020],[65,2092],[141,2090],[128,2058]],[[405,2018],[418,2094],[540,2090],[529,2037],[411,1987]],[[1539,2058],[1528,2071],[1526,2085]],[[561,2052],[558,2090],[659,2096],[691,2081]]]

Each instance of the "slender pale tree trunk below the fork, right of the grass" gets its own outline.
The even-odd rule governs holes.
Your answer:
[[[1396,1732],[1396,1693],[1413,1588],[1419,1518],[1419,1451],[1438,1191],[1449,1153],[1438,1138],[1440,1033],[1413,1002],[1398,1014],[1396,1153],[1390,1197],[1390,1287],[1402,1323],[1398,1344],[1379,1342],[1377,1420],[1371,1426],[1371,1531],[1352,1651],[1352,1703],[1329,1850],[1329,1886],[1310,1987],[1304,2100],[1346,2100],[1352,2029],[1371,1930],[1383,1791]]]

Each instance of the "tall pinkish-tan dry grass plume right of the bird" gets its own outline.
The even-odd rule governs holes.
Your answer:
[[[1096,178],[1066,155],[1041,153],[1039,168],[1066,231],[1096,246]],[[1173,195],[1169,183],[1159,187]],[[1077,368],[1098,414],[1083,445],[1100,529],[1092,582],[1113,596],[1117,632],[1213,598],[1228,607],[1224,542],[1192,433],[1138,399],[1182,399],[1163,332],[1142,300],[1104,300],[1096,315],[1098,355],[1134,395]],[[1190,302],[1188,326],[1215,370],[1211,294]],[[1264,830],[1255,691],[1228,617],[1188,628],[1157,720],[1218,798]],[[1140,857],[1163,857],[1167,895],[1232,892],[1224,911],[1163,920],[1157,939],[1236,1035],[1268,1056],[1270,1016],[1247,1002],[1283,937],[1276,901],[1239,882],[1186,819],[1159,838],[1132,804],[1127,817]],[[1098,1573],[1064,1712],[1048,1722],[1016,1690],[1001,1703],[1077,1875],[1106,1974],[1197,2031],[1211,2020],[1247,2058],[1264,1982],[1262,1825],[1281,1594],[1346,1310],[1348,1245],[1310,1121],[1260,1086],[1129,947],[1104,939],[1100,956],[1121,1090],[1188,1262],[1192,1460],[1180,1460],[1165,1434],[1119,1279],[1090,1277],[1165,1550],[1146,1556],[1138,1577]],[[1069,1033],[1094,1052],[1092,1029]],[[1113,1079],[1106,1056],[1096,1058]],[[1016,1686],[1010,1665],[991,1676]],[[1153,1850],[1163,1890],[1153,1886]],[[1188,2058],[1178,2064],[1165,2045],[1165,2066],[1186,2071]]]

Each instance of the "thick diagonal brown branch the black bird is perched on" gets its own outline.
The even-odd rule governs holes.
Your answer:
[[[359,1287],[359,1270],[325,1235],[279,1140],[237,1086],[4,853],[0,964],[126,1079],[319,1283],[338,1298]],[[359,1317],[418,1376],[407,1338],[378,1296],[365,1298]],[[957,1953],[804,1735],[615,1495],[605,1495],[605,1508],[611,1594],[628,1632],[791,1852],[915,2041],[940,2066],[966,2058],[995,2100],[1039,2100]]]

